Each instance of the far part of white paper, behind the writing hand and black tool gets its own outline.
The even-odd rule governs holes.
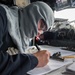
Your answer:
[[[53,47],[53,46],[42,45],[42,46],[40,46],[40,48],[43,50],[50,51],[51,55],[53,55],[56,52],[61,52],[61,56],[67,56],[67,55],[74,55],[75,54],[75,52],[73,52],[73,51],[63,50],[62,47]]]

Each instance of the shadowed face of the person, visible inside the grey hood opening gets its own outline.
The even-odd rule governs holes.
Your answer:
[[[44,31],[47,30],[46,23],[41,19],[38,22],[38,35],[42,34]]]

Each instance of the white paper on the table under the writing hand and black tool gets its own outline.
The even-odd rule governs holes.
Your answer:
[[[60,47],[40,46],[40,48],[42,50],[49,50],[51,54],[60,51],[62,53],[62,56],[75,54],[75,52],[62,50]],[[33,70],[30,70],[28,72],[28,74],[30,74],[30,75],[43,75],[43,74],[46,74],[46,73],[51,72],[53,70],[56,70],[64,65],[71,64],[72,62],[73,61],[70,59],[65,60],[64,62],[50,59],[50,62],[45,67],[34,68]]]

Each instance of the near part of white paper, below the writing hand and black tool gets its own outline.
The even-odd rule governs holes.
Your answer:
[[[34,68],[33,70],[29,71],[28,74],[30,74],[30,75],[43,75],[43,74],[49,73],[53,70],[56,70],[64,65],[71,64],[71,63],[72,63],[72,61],[68,61],[68,60],[64,61],[64,62],[50,60],[50,62],[45,67]]]

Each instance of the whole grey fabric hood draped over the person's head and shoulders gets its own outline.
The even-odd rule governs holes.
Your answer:
[[[31,3],[20,9],[2,6],[7,13],[8,32],[21,53],[24,53],[29,46],[30,38],[37,34],[37,24],[40,19],[45,21],[47,28],[54,23],[53,11],[44,2]]]

